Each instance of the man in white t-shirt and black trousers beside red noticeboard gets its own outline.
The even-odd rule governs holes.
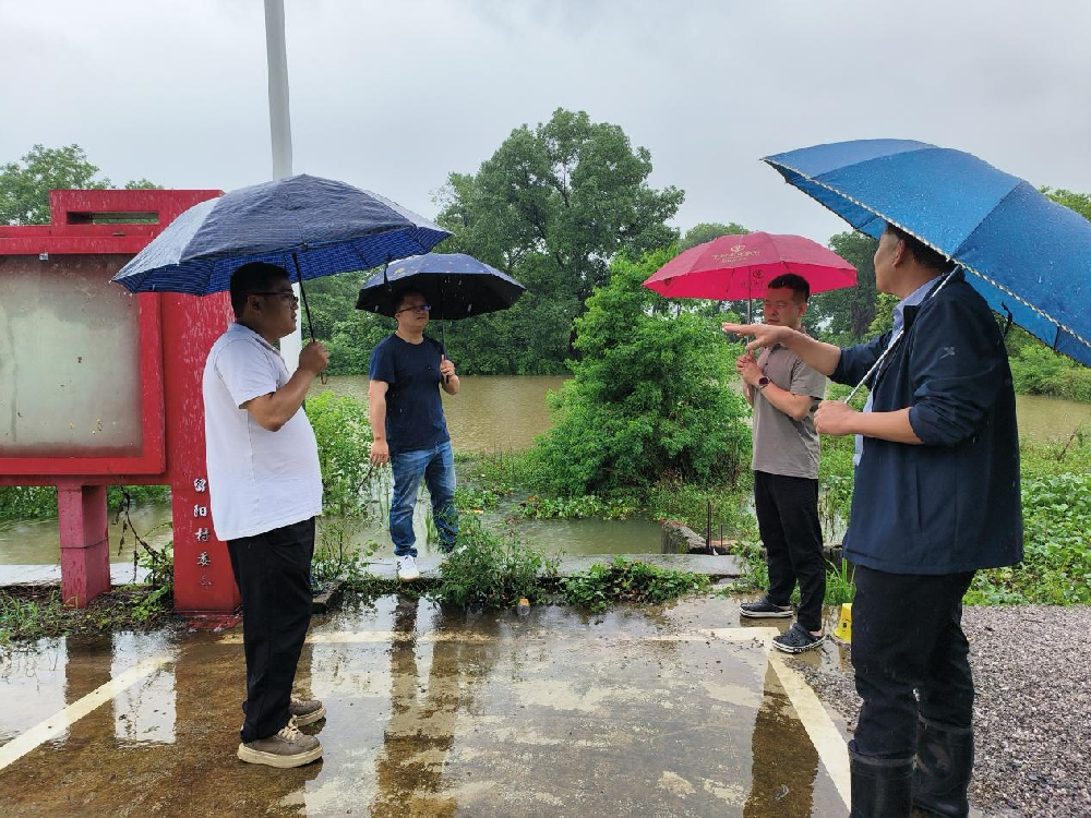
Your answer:
[[[235,324],[208,352],[204,409],[208,492],[242,593],[245,720],[238,757],[299,767],[322,757],[297,730],[325,717],[321,701],[291,697],[311,619],[314,518],[322,513],[319,449],[301,410],[329,362],[322,344],[290,377],[276,347],[296,329],[298,302],[283,267],[254,262],[231,277]]]

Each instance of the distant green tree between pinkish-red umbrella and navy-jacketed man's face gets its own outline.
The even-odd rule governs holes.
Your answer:
[[[868,334],[875,320],[875,248],[878,242],[861,232],[831,236],[829,249],[856,268],[856,286],[811,297],[804,324],[834,342],[855,344]]]

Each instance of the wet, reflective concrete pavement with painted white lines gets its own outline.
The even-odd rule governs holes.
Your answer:
[[[316,617],[325,757],[284,771],[235,758],[241,627],[43,640],[0,657],[0,814],[846,815],[842,736],[738,611]]]

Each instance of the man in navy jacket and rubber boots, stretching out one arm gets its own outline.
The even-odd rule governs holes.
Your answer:
[[[723,325],[754,335],[750,348],[787,346],[838,383],[878,363],[864,411],[827,401],[815,413],[820,434],[858,435],[843,543],[863,699],[849,743],[853,815],[968,814],[973,679],[961,601],[975,570],[1022,558],[1011,372],[987,304],[949,266],[888,225],[875,281],[901,299],[891,332],[838,349],[786,327]]]

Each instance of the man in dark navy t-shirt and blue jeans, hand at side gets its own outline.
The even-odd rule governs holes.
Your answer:
[[[394,471],[391,539],[398,578],[406,582],[420,576],[412,513],[422,479],[432,498],[440,549],[451,552],[458,534],[455,460],[440,387],[457,395],[459,381],[443,346],[424,335],[431,309],[417,290],[405,289],[396,296],[398,326],[372,351],[368,385],[374,434],[371,461],[376,466],[389,462]]]

